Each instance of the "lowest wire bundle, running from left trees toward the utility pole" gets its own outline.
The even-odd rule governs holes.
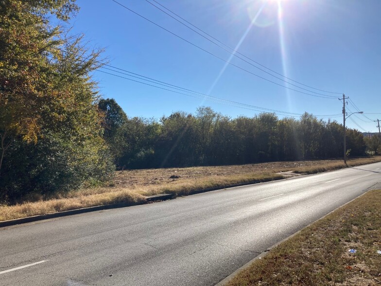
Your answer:
[[[107,66],[110,66],[110,65],[107,65]],[[108,68],[104,68],[104,67],[101,67],[101,68],[107,69],[107,70],[112,71],[112,72],[118,72],[118,71],[115,71],[115,70],[112,70],[112,69],[108,69]],[[115,68],[115,67],[113,67],[113,68]],[[119,68],[116,68],[116,69],[119,69]],[[119,70],[122,70],[122,69],[119,69]],[[119,73],[122,73],[122,74],[127,75],[127,76],[132,76],[132,77],[138,78],[140,80],[145,80],[145,81],[148,81],[148,82],[151,82],[151,83],[154,83],[154,84],[159,84],[159,85],[162,85],[162,86],[164,86],[166,88],[171,88],[171,89],[157,87],[155,85],[151,85],[151,84],[147,84],[147,83],[144,83],[144,82],[140,82],[138,80],[133,80],[133,79],[130,79],[130,78],[127,78],[127,77],[124,77],[124,76],[120,76],[120,75],[116,75],[116,74],[113,74],[113,73],[110,73],[110,72],[104,72],[104,71],[100,71],[100,70],[98,70],[98,71],[99,72],[103,72],[103,73],[107,73],[107,74],[110,74],[110,75],[114,75],[114,76],[117,76],[117,77],[121,77],[121,78],[124,78],[124,79],[127,79],[127,80],[131,80],[131,81],[134,81],[134,82],[138,82],[138,83],[141,83],[141,84],[145,84],[145,85],[148,85],[148,86],[151,86],[151,87],[155,87],[155,88],[159,88],[159,89],[164,89],[164,90],[172,91],[172,92],[179,93],[179,94],[182,94],[182,95],[187,95],[187,96],[191,96],[191,97],[195,97],[195,98],[203,98],[203,99],[205,97],[208,97],[208,100],[211,100],[211,101],[217,102],[217,103],[222,103],[222,104],[225,104],[224,102],[226,102],[226,103],[228,103],[227,105],[230,105],[230,106],[233,106],[232,104],[235,104],[234,106],[236,106],[236,105],[239,105],[239,107],[244,106],[242,108],[245,108],[245,109],[256,110],[256,111],[269,111],[269,112],[274,112],[274,113],[277,113],[277,114],[280,114],[280,115],[291,116],[291,117],[298,117],[298,116],[302,115],[300,113],[281,111],[281,110],[270,109],[270,108],[265,108],[265,107],[257,107],[257,106],[253,106],[253,105],[237,102],[237,101],[223,99],[223,98],[220,98],[220,97],[216,97],[216,96],[204,94],[204,93],[201,93],[201,92],[197,92],[197,91],[194,91],[194,90],[191,90],[191,89],[184,89],[184,88],[181,88],[179,86],[171,85],[171,84],[168,84],[168,83],[165,83],[165,82],[162,82],[162,81],[158,81],[158,80],[150,78],[150,77],[146,77],[146,76],[134,73],[134,72],[128,72],[128,71],[125,71],[125,70],[122,70],[122,71],[125,71],[125,72],[128,72],[128,73],[132,73],[132,74],[135,74],[135,75],[138,75],[138,76],[133,76],[133,75],[130,75],[130,74],[127,74],[127,73],[124,73],[124,72],[119,72]],[[143,77],[143,78],[139,78],[139,76]],[[144,79],[144,78],[148,78],[148,80]],[[185,94],[183,92],[174,91],[172,89],[177,89],[177,90],[180,90],[180,91],[183,91],[183,92],[190,92],[190,93],[192,93],[194,95]],[[200,96],[202,96],[202,97],[200,97]],[[251,108],[248,108],[248,107],[251,107]],[[322,117],[322,118],[332,117],[333,118],[333,117],[341,117],[341,114],[316,115],[316,117]]]

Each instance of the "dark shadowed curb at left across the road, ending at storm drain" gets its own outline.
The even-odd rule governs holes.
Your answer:
[[[146,201],[143,203],[138,203],[138,202],[137,203],[133,203],[133,202],[117,203],[117,204],[111,204],[111,205],[95,206],[95,207],[82,208],[82,209],[76,209],[76,210],[70,210],[70,211],[64,211],[64,212],[57,212],[52,214],[34,215],[34,216],[28,216],[23,218],[16,218],[11,220],[0,221],[0,228],[27,223],[27,222],[34,222],[34,221],[43,220],[43,219],[62,217],[67,215],[78,215],[78,214],[84,214],[89,212],[130,207],[130,206],[145,204],[147,202],[152,202],[156,200],[165,200],[172,197],[173,197],[173,194],[161,194],[161,195],[146,197]]]

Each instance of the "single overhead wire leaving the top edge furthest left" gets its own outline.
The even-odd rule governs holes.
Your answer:
[[[264,77],[262,77],[262,76],[260,76],[260,75],[258,75],[258,74],[253,73],[253,72],[249,72],[248,70],[245,70],[245,69],[241,68],[240,66],[237,66],[237,65],[235,65],[235,64],[232,64],[231,62],[229,62],[229,61],[223,59],[222,57],[219,57],[219,56],[217,56],[217,55],[215,55],[215,54],[213,54],[213,53],[210,53],[209,51],[207,51],[207,50],[201,48],[200,46],[197,46],[196,44],[193,44],[192,42],[186,40],[185,38],[183,38],[183,37],[181,37],[181,36],[178,36],[177,34],[174,34],[173,32],[169,31],[168,29],[166,29],[166,28],[160,26],[159,24],[156,24],[155,22],[151,21],[151,20],[148,19],[148,18],[145,18],[144,16],[142,16],[142,15],[140,15],[139,13],[137,13],[137,12],[131,10],[130,8],[124,6],[123,4],[119,3],[118,1],[116,1],[116,0],[111,0],[111,1],[117,3],[118,5],[120,5],[121,7],[125,8],[125,9],[127,9],[128,11],[134,13],[135,15],[137,15],[137,16],[139,16],[139,17],[141,17],[141,18],[143,18],[143,19],[145,19],[145,20],[147,20],[147,21],[149,21],[150,23],[156,25],[156,26],[159,27],[160,29],[163,29],[164,31],[167,31],[168,33],[172,34],[173,36],[176,36],[176,37],[182,39],[183,41],[185,41],[185,42],[191,44],[192,46],[194,46],[194,47],[196,47],[196,48],[198,48],[198,49],[204,51],[205,53],[208,53],[208,54],[210,54],[210,55],[212,55],[212,56],[214,56],[214,57],[216,57],[216,58],[218,58],[218,59],[224,61],[225,63],[228,63],[229,65],[232,65],[232,66],[234,66],[234,67],[236,67],[236,68],[238,68],[238,69],[240,69],[240,70],[242,70],[242,71],[244,71],[244,72],[248,72],[248,73],[250,73],[250,74],[252,74],[252,75],[255,75],[255,76],[257,76],[257,77],[259,77],[259,78],[261,78],[261,79],[263,79],[263,80],[265,80],[265,81],[271,82],[271,83],[273,83],[273,84],[275,84],[275,85],[277,85],[277,86],[283,87],[283,88],[285,88],[285,89],[294,90],[294,91],[296,91],[296,92],[303,93],[303,94],[306,94],[306,95],[315,96],[315,97],[321,97],[321,98],[327,98],[327,99],[336,99],[336,98],[337,98],[336,96],[325,95],[325,94],[322,94],[322,95],[323,95],[323,96],[322,96],[322,95],[316,95],[316,94],[307,93],[307,92],[300,91],[300,90],[297,90],[297,89],[292,89],[292,88],[286,87],[286,86],[284,86],[284,85],[278,84],[278,83],[276,83],[276,82],[274,82],[274,81],[272,81],[272,80],[269,80],[269,79],[267,79],[267,78],[264,78]],[[299,89],[302,89],[302,88],[299,88]],[[312,92],[313,92],[313,91],[312,91]]]

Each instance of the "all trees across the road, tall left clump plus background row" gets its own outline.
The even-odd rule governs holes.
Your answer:
[[[78,10],[75,0],[1,1],[0,204],[99,185],[115,169],[342,155],[343,126],[308,113],[232,119],[200,107],[194,115],[129,118],[100,97],[91,76],[105,63],[102,50],[64,28]],[[350,156],[365,154],[356,130],[347,131],[347,146]]]

